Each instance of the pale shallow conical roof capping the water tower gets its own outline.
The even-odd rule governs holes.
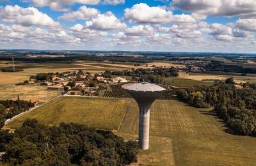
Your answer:
[[[143,91],[143,92],[156,92],[156,91],[165,91],[161,86],[157,86],[156,84],[150,84],[147,82],[136,83],[136,84],[125,84],[124,89],[129,91]]]

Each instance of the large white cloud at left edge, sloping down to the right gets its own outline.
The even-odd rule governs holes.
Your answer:
[[[2,17],[3,22],[20,24],[22,26],[60,26],[58,22],[52,20],[47,14],[33,7],[22,8],[18,5],[7,5],[4,8],[0,8],[0,17]]]

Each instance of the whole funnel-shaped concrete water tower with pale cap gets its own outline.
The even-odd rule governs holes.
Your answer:
[[[138,103],[139,113],[139,146],[148,149],[149,117],[152,103],[166,90],[161,86],[150,83],[124,84],[122,86]]]

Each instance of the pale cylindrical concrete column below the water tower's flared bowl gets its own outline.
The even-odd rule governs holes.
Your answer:
[[[148,149],[150,106],[151,105],[139,105],[139,146],[141,149]]]

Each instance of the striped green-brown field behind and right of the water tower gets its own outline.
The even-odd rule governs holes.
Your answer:
[[[251,154],[256,153],[256,139],[226,133],[223,125],[211,109],[195,109],[177,101],[158,100],[150,113],[150,135],[172,139],[176,165],[255,164]],[[129,105],[119,132],[138,133],[135,104]]]

